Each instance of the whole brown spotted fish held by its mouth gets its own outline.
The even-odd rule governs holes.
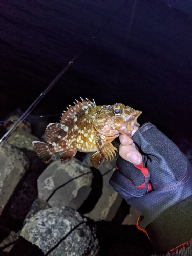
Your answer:
[[[106,159],[112,160],[117,148],[111,143],[120,134],[131,137],[142,111],[122,103],[97,106],[94,99],[80,98],[63,112],[60,123],[48,124],[44,139],[33,141],[34,150],[48,163],[55,152],[62,152],[61,162],[70,161],[77,151],[95,152],[90,161],[98,168]]]

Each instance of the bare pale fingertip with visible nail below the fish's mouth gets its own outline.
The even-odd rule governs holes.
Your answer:
[[[129,161],[133,164],[140,164],[142,161],[141,154],[136,150],[132,145],[119,146],[119,155],[126,161]]]

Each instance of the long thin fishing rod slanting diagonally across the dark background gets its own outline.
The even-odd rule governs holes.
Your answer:
[[[97,35],[102,29],[110,22],[110,20],[119,12],[122,6],[125,4],[124,2],[117,11],[103,24],[101,28],[99,28],[95,35]],[[90,38],[90,37],[88,37]],[[92,36],[92,39],[95,39],[95,36]],[[87,39],[85,40],[87,41]],[[16,127],[31,113],[31,111],[35,108],[35,106],[41,101],[42,98],[49,92],[49,90],[54,86],[54,84],[60,79],[60,77],[69,69],[69,67],[74,63],[74,61],[78,58],[78,56],[82,53],[84,49],[87,48],[87,44],[84,43],[84,47],[75,55],[75,57],[69,61],[68,65],[55,77],[55,79],[49,84],[49,86],[36,98],[36,100],[29,106],[29,108],[23,113],[22,116],[10,127],[10,129],[4,134],[4,136],[0,139],[0,145],[8,139],[11,133],[16,129]]]

